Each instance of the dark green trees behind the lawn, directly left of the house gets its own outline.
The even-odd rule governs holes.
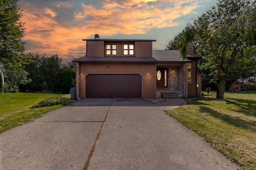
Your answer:
[[[48,57],[46,54],[28,54],[32,63],[26,66],[31,82],[26,86],[20,86],[27,92],[60,92],[69,93],[75,86],[76,68],[71,62],[62,64],[58,55]]]

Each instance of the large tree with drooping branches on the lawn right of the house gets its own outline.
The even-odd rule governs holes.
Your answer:
[[[198,55],[206,60],[217,82],[217,99],[224,98],[228,79],[256,70],[256,1],[219,0],[180,33],[177,49],[186,58],[186,47],[200,40]]]

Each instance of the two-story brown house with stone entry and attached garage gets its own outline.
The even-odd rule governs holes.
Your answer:
[[[196,96],[200,74],[189,54],[152,50],[152,39],[83,39],[86,55],[76,63],[76,98],[160,98]],[[198,77],[199,76],[199,77]]]

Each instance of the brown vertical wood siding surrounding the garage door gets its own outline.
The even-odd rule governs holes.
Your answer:
[[[86,76],[88,74],[140,74],[142,77],[142,98],[156,98],[156,64],[124,64],[124,63],[80,63],[80,78],[77,98],[86,98]],[[82,73],[82,77],[80,76]],[[149,74],[149,75],[148,75]]]

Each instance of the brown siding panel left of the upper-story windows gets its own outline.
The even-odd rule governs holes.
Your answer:
[[[86,41],[86,56],[104,57],[104,41]]]

